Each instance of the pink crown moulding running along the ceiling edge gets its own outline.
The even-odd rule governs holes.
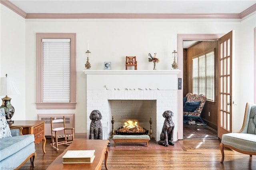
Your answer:
[[[256,11],[256,4],[254,4],[240,14],[26,14],[8,0],[1,0],[0,3],[25,19],[242,19]]]

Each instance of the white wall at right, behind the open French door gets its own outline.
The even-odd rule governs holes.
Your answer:
[[[233,132],[242,128],[244,111],[247,102],[254,103],[254,28],[256,27],[256,15],[250,15],[240,24],[240,29],[235,32],[235,65],[233,83],[234,102],[232,127]]]

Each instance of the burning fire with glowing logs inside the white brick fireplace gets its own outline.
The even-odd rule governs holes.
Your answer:
[[[138,133],[138,132],[146,132],[146,130],[142,127],[138,126],[137,121],[126,121],[124,126],[118,129],[118,132],[128,132],[128,133]]]

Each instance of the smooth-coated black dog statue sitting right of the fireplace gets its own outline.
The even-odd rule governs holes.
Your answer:
[[[162,128],[162,132],[160,134],[160,140],[158,141],[158,144],[169,146],[174,145],[173,143],[173,129],[174,129],[174,123],[172,122],[172,111],[165,111],[163,113],[164,125]]]

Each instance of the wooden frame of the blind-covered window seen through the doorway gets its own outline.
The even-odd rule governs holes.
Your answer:
[[[208,50],[208,51],[205,51],[204,53],[200,53],[199,55],[196,55],[196,56],[194,56],[194,57],[192,57],[192,59],[194,59],[194,58],[198,58],[198,62],[199,62],[199,57],[201,57],[201,56],[203,56],[203,55],[205,55],[204,57],[205,57],[205,64],[206,64],[206,54],[208,54],[208,53],[211,53],[211,52],[213,52],[214,53],[214,62],[213,62],[213,64],[214,64],[214,71],[213,71],[213,73],[214,73],[214,75],[213,75],[213,77],[215,77],[215,48],[213,48],[213,49],[210,49],[210,50]],[[193,63],[193,61],[192,61],[192,63]],[[206,65],[205,65],[205,67],[206,67]],[[193,71],[193,64],[192,64],[192,71]],[[198,72],[199,72],[199,64],[198,64]],[[192,72],[192,75],[193,75],[193,72]],[[206,93],[206,70],[205,70],[205,93]],[[198,80],[199,80],[199,77],[198,77]],[[207,101],[210,101],[210,102],[215,102],[216,101],[216,99],[215,99],[215,78],[214,78],[214,80],[213,80],[213,97],[214,97],[214,99],[213,100],[211,100],[211,99],[207,99],[207,96],[206,96],[206,100]],[[198,83],[198,88],[199,88],[199,81],[197,82]],[[193,76],[192,76],[192,90],[194,89],[194,82],[193,82]],[[194,92],[193,92],[194,93]],[[204,95],[206,95],[206,94],[204,94]]]

